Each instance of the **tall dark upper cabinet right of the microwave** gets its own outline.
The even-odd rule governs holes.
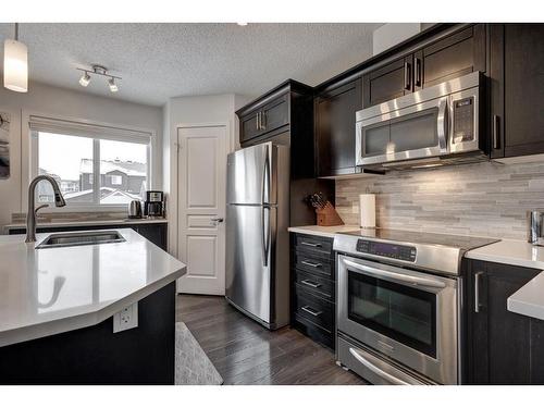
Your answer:
[[[492,158],[544,153],[544,24],[492,24]]]

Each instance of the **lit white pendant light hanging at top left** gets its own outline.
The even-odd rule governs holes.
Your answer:
[[[16,92],[28,91],[28,49],[18,41],[18,23],[15,39],[3,44],[3,86]]]

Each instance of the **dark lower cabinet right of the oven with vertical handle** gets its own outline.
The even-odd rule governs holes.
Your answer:
[[[469,384],[544,384],[544,321],[507,310],[507,299],[541,271],[502,263],[467,263]]]

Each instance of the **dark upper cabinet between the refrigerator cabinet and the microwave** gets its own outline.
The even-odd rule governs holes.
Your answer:
[[[318,176],[355,173],[355,112],[362,108],[362,79],[321,91],[314,99]]]

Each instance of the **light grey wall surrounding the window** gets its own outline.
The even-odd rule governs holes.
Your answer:
[[[151,187],[162,185],[162,109],[132,102],[92,96],[84,90],[74,91],[45,84],[30,83],[27,94],[18,94],[0,87],[0,111],[12,114],[11,132],[11,176],[0,180],[0,234],[2,226],[9,224],[12,212],[21,212],[22,188],[28,181],[22,180],[22,163],[28,158],[22,158],[22,140],[28,135],[22,134],[21,121],[23,111],[50,114],[53,116],[70,116],[97,123],[110,123],[122,126],[148,128],[156,132],[156,146],[151,158]],[[24,203],[26,206],[26,203]]]

